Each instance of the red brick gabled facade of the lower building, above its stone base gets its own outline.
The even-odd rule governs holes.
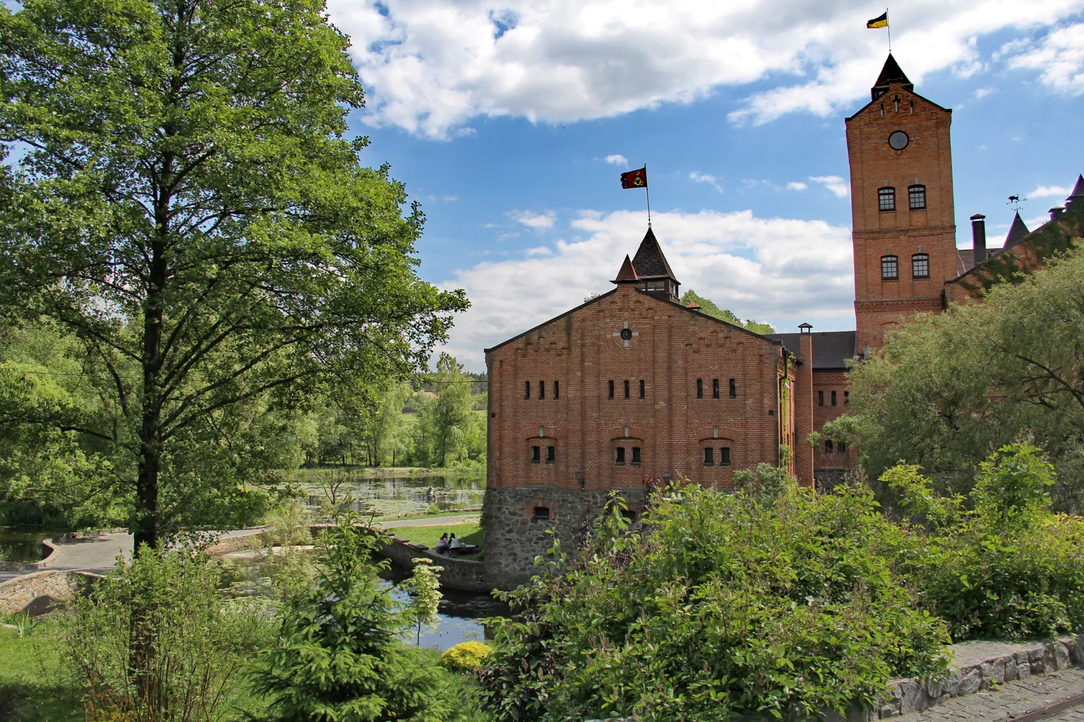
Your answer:
[[[727,488],[793,436],[782,343],[633,283],[486,363],[489,487],[635,488],[670,474]]]

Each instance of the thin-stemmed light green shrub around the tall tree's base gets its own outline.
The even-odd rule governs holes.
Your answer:
[[[88,719],[222,719],[266,626],[228,606],[218,580],[190,548],[144,547],[75,602],[62,635],[67,667],[88,691]]]

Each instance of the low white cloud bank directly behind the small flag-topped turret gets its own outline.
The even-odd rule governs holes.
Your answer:
[[[808,320],[827,329],[830,321],[818,319],[853,314],[849,228],[765,220],[751,211],[657,213],[653,221],[682,287],[741,318],[780,328]],[[645,229],[643,213],[629,211],[583,211],[571,225],[583,239],[558,240],[546,249],[552,254],[539,258],[542,252],[532,249],[527,258],[482,262],[441,284],[466,289],[472,301],[456,318],[450,353],[480,369],[482,349],[579,305],[592,292],[609,290]]]

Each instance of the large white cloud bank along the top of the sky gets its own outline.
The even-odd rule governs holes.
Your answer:
[[[985,66],[977,38],[1049,27],[1081,8],[913,0],[893,11],[896,57],[915,82],[946,68],[967,76]],[[331,0],[328,12],[352,38],[367,121],[434,137],[476,117],[609,117],[765,79],[733,121],[835,114],[868,92],[885,60],[885,31],[865,29],[850,2]],[[1076,88],[1077,32],[1060,28],[1017,62]]]

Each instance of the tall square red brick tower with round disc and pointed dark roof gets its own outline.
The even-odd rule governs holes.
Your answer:
[[[889,54],[872,100],[847,119],[856,351],[916,313],[942,309],[959,275],[952,110],[926,100]]]

